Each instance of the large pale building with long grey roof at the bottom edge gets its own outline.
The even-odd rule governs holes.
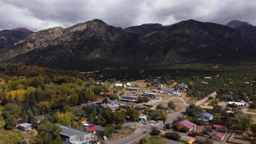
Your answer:
[[[91,143],[91,133],[83,130],[74,129],[65,125],[60,125],[62,131],[59,133],[61,140],[65,144],[89,144]]]

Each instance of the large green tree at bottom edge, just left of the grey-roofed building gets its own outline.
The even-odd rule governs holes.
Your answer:
[[[62,129],[53,123],[45,122],[42,124],[39,124],[37,126],[38,134],[36,135],[34,141],[38,144],[44,144],[44,143],[53,143],[53,144],[59,144],[62,143],[60,132]]]

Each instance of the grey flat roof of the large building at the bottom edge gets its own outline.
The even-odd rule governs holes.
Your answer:
[[[88,135],[88,134],[90,134],[86,131],[66,127],[65,125],[60,125],[60,128],[62,129],[60,134],[65,135],[65,136],[69,136],[69,137],[73,136],[73,135]]]

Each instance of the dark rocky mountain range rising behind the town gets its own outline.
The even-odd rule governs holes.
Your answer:
[[[95,19],[68,28],[54,27],[27,33],[30,35],[25,39],[15,43],[13,40],[13,46],[11,43],[2,44],[0,61],[47,67],[72,62],[85,67],[94,61],[177,63],[246,60],[256,56],[256,37],[252,30],[248,30],[253,28],[255,26],[237,20],[226,26],[187,20],[170,26],[150,23],[123,29]]]

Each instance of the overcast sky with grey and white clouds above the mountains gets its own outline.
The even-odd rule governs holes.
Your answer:
[[[123,28],[189,19],[220,24],[241,20],[256,25],[255,9],[255,0],[0,0],[0,30],[66,28],[92,19]]]

